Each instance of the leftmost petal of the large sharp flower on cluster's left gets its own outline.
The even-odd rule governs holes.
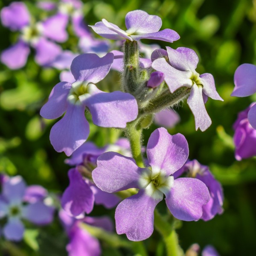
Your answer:
[[[56,119],[67,110],[67,96],[72,84],[60,82],[52,88],[48,102],[40,110],[40,115],[46,119]]]

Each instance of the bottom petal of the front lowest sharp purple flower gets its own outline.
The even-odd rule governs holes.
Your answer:
[[[154,209],[161,200],[149,197],[143,189],[123,200],[116,207],[116,233],[125,233],[131,241],[147,239],[153,233]]]

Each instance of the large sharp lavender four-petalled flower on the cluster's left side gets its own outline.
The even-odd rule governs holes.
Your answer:
[[[120,91],[105,93],[95,85],[108,74],[113,58],[113,53],[102,58],[93,53],[79,55],[71,64],[76,81],[73,84],[60,82],[53,87],[40,114],[46,119],[56,119],[66,112],[50,132],[50,141],[56,151],[64,151],[70,156],[87,140],[86,107],[93,123],[102,127],[125,128],[127,122],[136,119],[138,106],[134,96]]]

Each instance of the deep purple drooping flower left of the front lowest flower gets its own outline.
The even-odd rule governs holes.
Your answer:
[[[81,218],[84,213],[90,213],[93,205],[102,204],[110,209],[119,203],[119,198],[101,191],[85,177],[82,177],[78,168],[68,172],[70,184],[61,198],[61,205],[68,215]]]

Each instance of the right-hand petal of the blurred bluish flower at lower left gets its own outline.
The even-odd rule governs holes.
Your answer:
[[[22,209],[22,217],[37,225],[46,225],[53,220],[54,208],[45,205],[42,201],[28,204]]]

